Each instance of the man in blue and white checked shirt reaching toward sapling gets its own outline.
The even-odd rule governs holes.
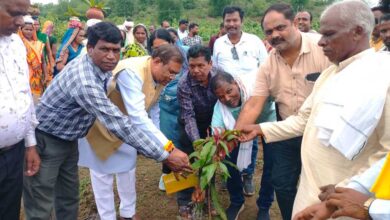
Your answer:
[[[188,156],[150,139],[106,95],[106,83],[119,61],[121,34],[109,23],[88,29],[88,54],[73,60],[53,80],[37,107],[36,130],[40,172],[26,178],[27,219],[77,219],[79,206],[78,146],[98,119],[123,142],[146,157],[163,161],[175,172],[191,171]],[[55,203],[55,206],[54,206]]]

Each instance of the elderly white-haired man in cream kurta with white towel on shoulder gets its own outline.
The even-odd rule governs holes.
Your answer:
[[[248,125],[243,141],[267,142],[303,134],[302,172],[293,214],[326,199],[390,150],[390,56],[370,49],[374,27],[362,1],[337,2],[320,20],[319,45],[333,63],[324,70],[298,115]]]

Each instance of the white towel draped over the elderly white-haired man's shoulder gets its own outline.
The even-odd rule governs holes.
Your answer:
[[[317,137],[347,159],[364,149],[382,115],[390,83],[390,55],[369,52],[337,73],[315,125]]]

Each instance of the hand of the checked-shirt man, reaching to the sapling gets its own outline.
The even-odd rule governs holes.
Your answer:
[[[189,172],[192,173],[192,168],[190,165],[190,160],[188,155],[183,151],[175,148],[169,154],[169,157],[164,160],[164,164],[167,165],[173,172]]]

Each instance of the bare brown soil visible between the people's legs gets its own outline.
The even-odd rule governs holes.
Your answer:
[[[259,153],[255,173],[256,192],[259,190],[260,176],[262,172],[262,155]],[[161,164],[142,156],[137,161],[137,214],[143,220],[176,220],[177,205],[175,196],[167,196],[158,189],[158,181],[161,175]],[[97,217],[96,205],[93,198],[89,180],[89,171],[80,168],[80,214],[79,220],[94,220]],[[229,205],[229,196],[226,191],[220,191],[220,199],[225,206]],[[257,214],[257,196],[247,197],[245,210],[240,215],[240,220],[255,220]],[[116,195],[118,206],[118,196]],[[271,208],[271,219],[279,220],[281,215],[274,202]]]

